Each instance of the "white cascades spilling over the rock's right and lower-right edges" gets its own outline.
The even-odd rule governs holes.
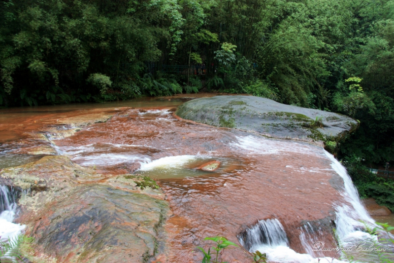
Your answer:
[[[376,225],[362,205],[346,168],[327,151],[323,154],[331,161],[332,170],[343,179],[344,184],[340,194],[346,203],[336,204],[335,208],[335,228],[341,245],[351,248],[361,240],[372,239],[373,237],[365,231],[365,228],[366,226],[373,228]],[[261,220],[258,224],[238,234],[237,237],[245,249],[250,252],[259,250],[266,253],[268,259],[274,262],[310,263],[316,260],[318,262],[325,262],[324,260],[341,262],[324,258],[323,254],[313,250],[313,243],[317,242],[323,234],[319,226],[306,224],[300,230],[300,241],[308,254],[299,254],[290,249],[285,229],[277,219]]]

